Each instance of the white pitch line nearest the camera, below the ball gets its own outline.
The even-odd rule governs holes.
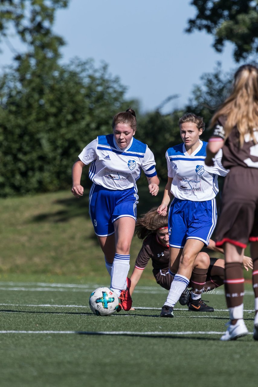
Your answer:
[[[87,332],[87,331],[75,331],[75,330],[0,330],[0,334],[4,333],[29,333],[29,334],[85,334],[85,335],[138,335],[138,336],[170,336],[170,335],[222,335],[225,332],[217,331],[191,331],[184,332],[130,332],[128,330],[110,331],[110,332]],[[249,335],[253,332],[248,332]]]

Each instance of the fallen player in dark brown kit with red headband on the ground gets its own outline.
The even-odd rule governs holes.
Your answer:
[[[153,208],[145,215],[137,219],[135,234],[144,239],[142,248],[138,253],[135,267],[131,276],[131,294],[137,285],[142,273],[149,262],[152,260],[153,275],[157,283],[162,288],[169,290],[173,281],[173,276],[169,274],[169,244],[168,244],[168,227],[167,215],[160,216],[157,209]],[[222,252],[221,248],[215,247],[215,242],[210,240],[208,248],[214,251]],[[252,260],[244,257],[244,268],[252,269]],[[196,273],[207,271],[205,283],[196,282]],[[198,279],[197,279],[198,281]],[[214,308],[209,307],[201,298],[203,292],[218,288],[224,283],[224,260],[210,258],[207,253],[200,252],[195,260],[195,265],[191,275],[190,291],[185,291],[179,298],[181,305],[188,305],[189,310],[195,312],[213,312]],[[206,301],[207,302],[207,301]]]

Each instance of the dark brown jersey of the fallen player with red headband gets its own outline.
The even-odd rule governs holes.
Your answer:
[[[155,270],[167,269],[169,265],[169,247],[161,245],[157,234],[153,233],[145,238],[142,248],[135,261],[137,269],[145,269],[149,260]]]

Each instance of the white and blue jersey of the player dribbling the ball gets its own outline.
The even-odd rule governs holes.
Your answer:
[[[91,163],[92,182],[110,190],[134,187],[141,170],[147,177],[157,175],[152,151],[134,137],[127,148],[121,149],[113,134],[98,136],[83,149],[79,159],[86,165]]]

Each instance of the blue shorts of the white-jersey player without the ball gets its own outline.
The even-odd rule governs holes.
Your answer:
[[[169,246],[183,248],[186,239],[208,246],[217,222],[215,199],[203,202],[174,198],[168,215]]]

